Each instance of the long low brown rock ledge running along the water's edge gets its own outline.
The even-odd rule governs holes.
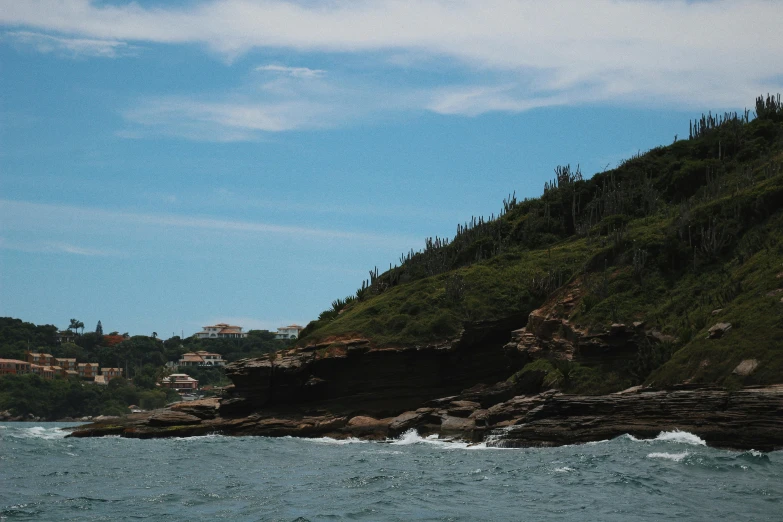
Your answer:
[[[513,395],[513,385],[478,386],[393,417],[296,409],[223,417],[217,399],[80,426],[70,436],[159,438],[206,435],[359,437],[384,440],[415,429],[499,447],[557,446],[628,433],[652,438],[682,430],[722,448],[783,449],[783,385],[631,389],[602,396],[549,391]],[[509,396],[511,395],[511,396]]]

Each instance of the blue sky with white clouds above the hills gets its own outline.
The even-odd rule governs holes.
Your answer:
[[[0,0],[0,316],[305,325],[783,91],[778,0]]]

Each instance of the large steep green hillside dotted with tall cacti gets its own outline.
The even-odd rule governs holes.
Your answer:
[[[428,239],[336,300],[300,344],[447,340],[465,323],[526,316],[578,283],[570,321],[596,330],[644,321],[677,338],[666,353],[640,354],[618,387],[783,382],[780,95],[758,98],[753,115],[708,114],[690,127],[689,139],[590,179],[558,167],[541,197],[511,195],[498,216],[472,218],[451,240]],[[717,322],[733,328],[707,340]],[[732,375],[751,358],[756,372]]]

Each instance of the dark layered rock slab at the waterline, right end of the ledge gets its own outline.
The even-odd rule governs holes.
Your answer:
[[[628,433],[693,433],[710,446],[773,451],[783,448],[783,386],[650,390],[601,396],[544,393],[490,408],[477,439],[503,447],[559,446]]]

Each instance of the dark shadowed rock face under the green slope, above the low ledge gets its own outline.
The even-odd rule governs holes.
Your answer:
[[[473,324],[458,340],[430,346],[378,349],[365,339],[348,339],[238,361],[226,367],[234,388],[221,415],[294,406],[396,415],[476,383],[506,379],[521,368],[525,359],[504,348],[519,322],[517,317]]]

